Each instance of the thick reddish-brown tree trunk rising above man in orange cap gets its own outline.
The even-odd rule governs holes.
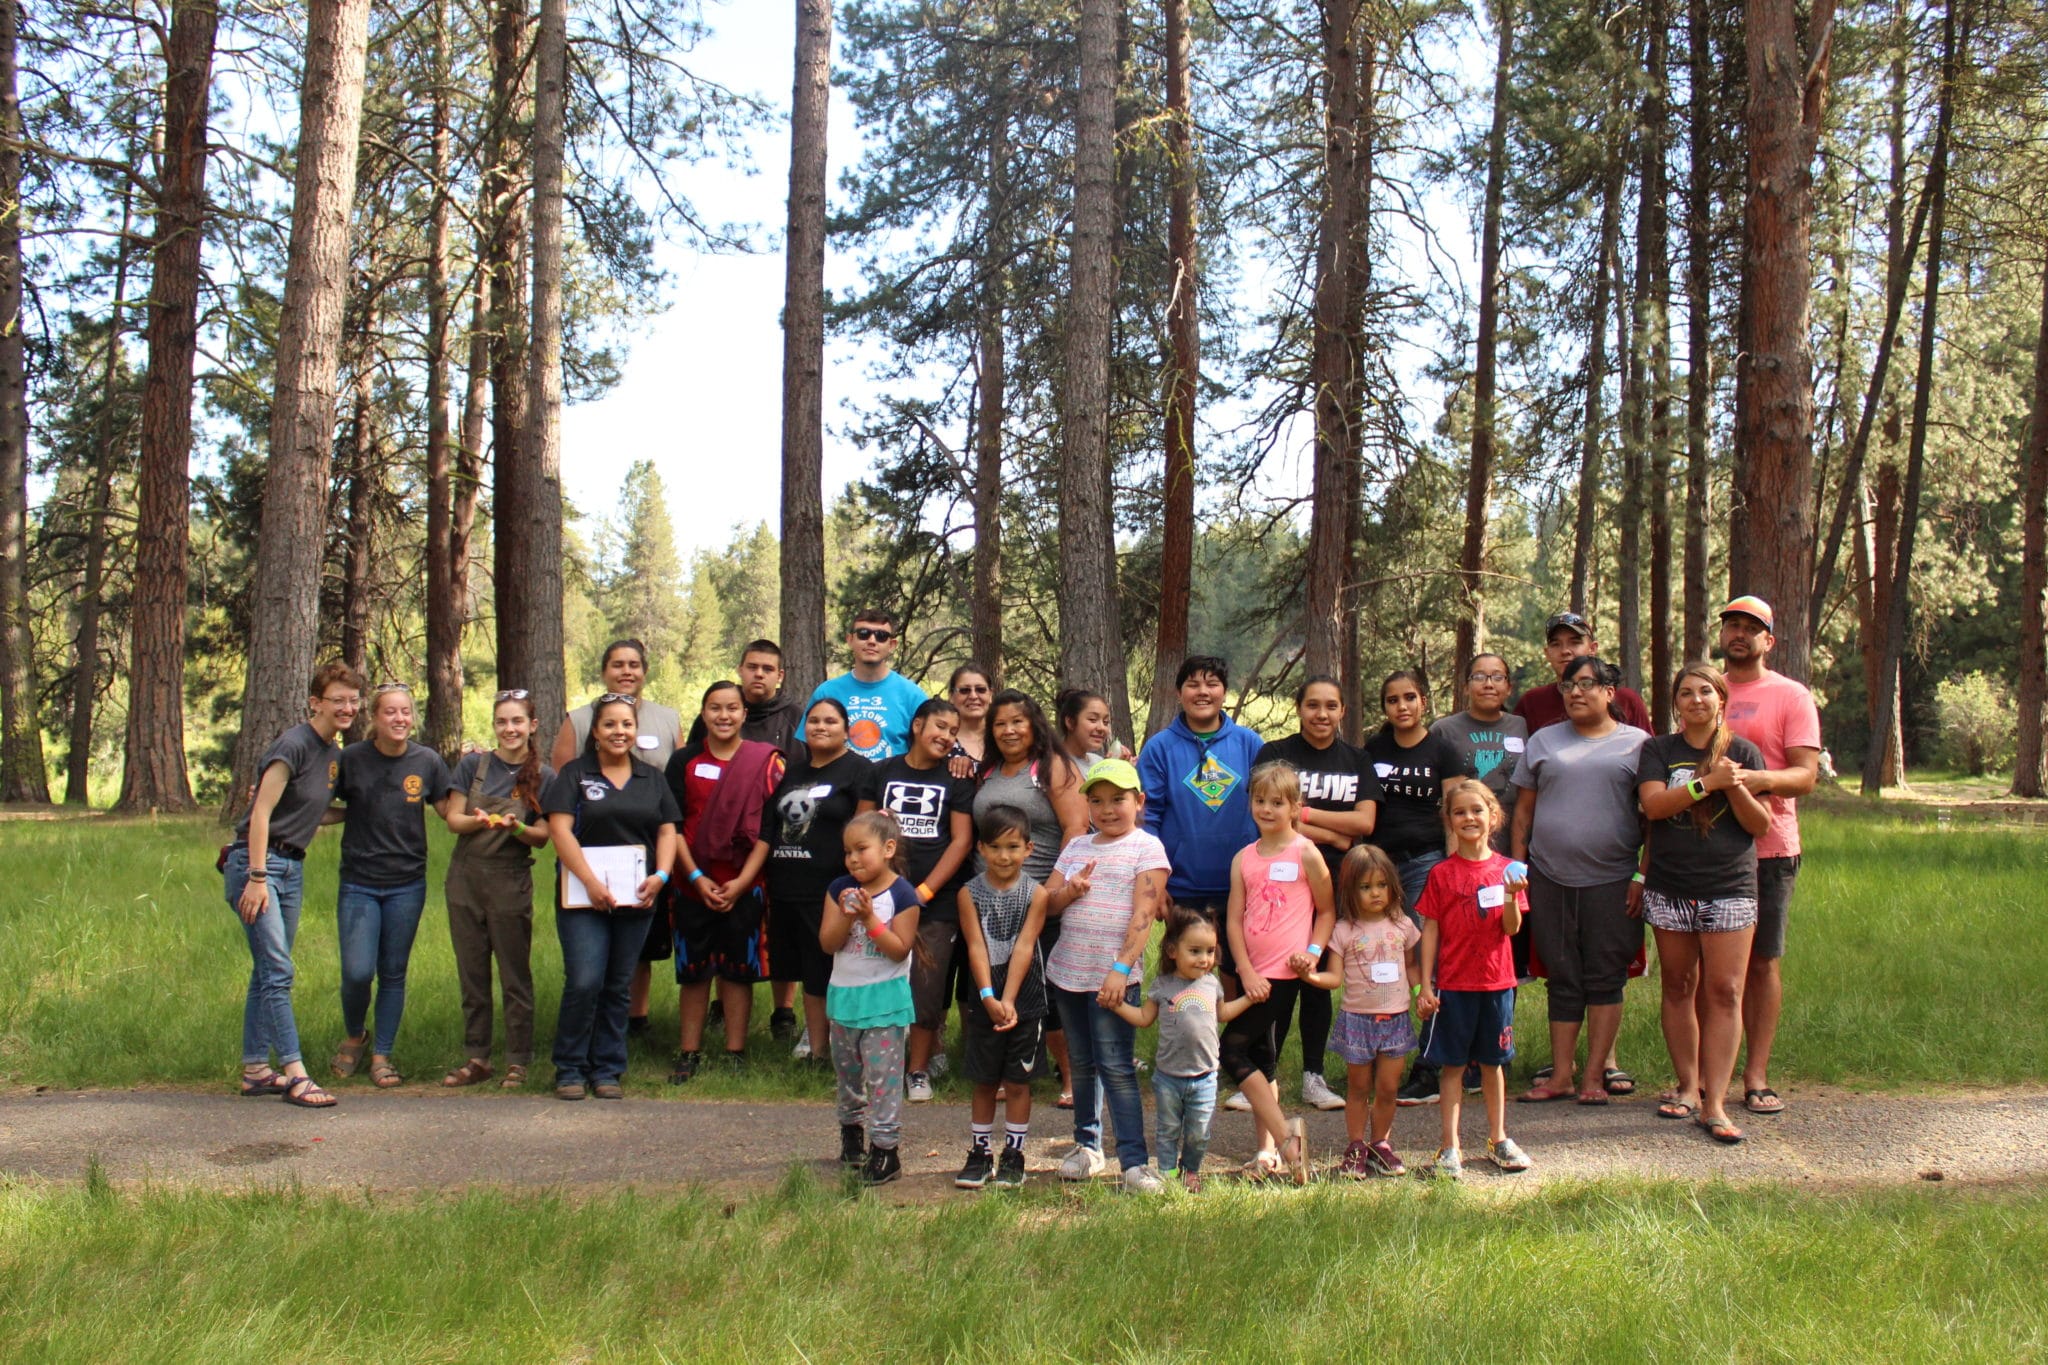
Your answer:
[[[1798,610],[1812,591],[1812,153],[1821,139],[1835,2],[1810,14],[1815,55],[1800,61],[1794,0],[1747,0],[1749,170],[1743,199],[1743,385],[1735,497],[1745,516],[1743,579],[1731,591],[1778,608],[1772,667],[1800,681],[1812,632]],[[1790,610],[1788,610],[1790,608]]]

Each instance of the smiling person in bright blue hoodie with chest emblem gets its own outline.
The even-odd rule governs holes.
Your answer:
[[[1174,686],[1180,716],[1139,753],[1145,784],[1145,829],[1159,837],[1174,872],[1167,898],[1217,925],[1223,945],[1219,974],[1237,995],[1237,964],[1223,931],[1231,900],[1231,860],[1260,837],[1251,823],[1251,765],[1266,741],[1223,714],[1231,665],[1214,655],[1190,655]]]

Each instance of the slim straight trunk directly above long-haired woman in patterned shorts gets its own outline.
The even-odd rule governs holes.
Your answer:
[[[1706,659],[1706,524],[1714,424],[1714,96],[1712,41],[1706,0],[1686,4],[1686,45],[1692,84],[1686,182],[1686,659]]]

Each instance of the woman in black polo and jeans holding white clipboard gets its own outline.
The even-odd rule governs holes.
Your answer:
[[[561,939],[561,1011],[555,1017],[555,1099],[623,1099],[627,997],[653,902],[676,862],[682,810],[662,769],[635,757],[635,698],[606,692],[592,704],[590,739],[541,796],[561,876],[555,933]],[[586,849],[637,845],[645,876],[608,890]],[[569,900],[569,876],[582,884]]]

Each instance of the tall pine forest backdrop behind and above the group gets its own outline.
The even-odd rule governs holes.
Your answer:
[[[1868,788],[2042,792],[2038,6],[791,8],[782,104],[692,0],[0,4],[0,796],[231,806],[315,657],[446,751],[614,634],[684,710],[758,634],[807,690],[864,604],[1135,735],[1188,651],[1358,724],[1573,606],[1663,716],[1737,591]],[[786,223],[692,196],[776,145]],[[776,233],[780,424],[674,375],[563,499],[674,262]]]

